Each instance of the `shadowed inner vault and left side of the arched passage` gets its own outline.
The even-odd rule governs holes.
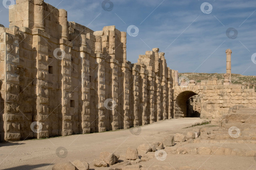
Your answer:
[[[194,91],[182,91],[178,94],[176,97],[176,100],[174,101],[174,117],[187,117],[187,100],[194,96],[198,95]]]

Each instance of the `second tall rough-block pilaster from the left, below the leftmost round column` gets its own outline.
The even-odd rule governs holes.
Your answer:
[[[49,90],[48,90],[48,40],[50,34],[36,29],[33,31],[33,59],[34,68],[37,70],[36,78],[34,79],[33,85],[34,98],[36,99],[36,110],[34,112],[34,121],[40,122],[42,125],[42,131],[40,133],[34,133],[34,137],[48,138],[50,136],[49,129]],[[70,133],[72,134],[72,133]]]

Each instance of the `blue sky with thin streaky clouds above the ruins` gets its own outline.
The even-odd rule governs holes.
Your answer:
[[[45,0],[67,10],[68,21],[94,31],[108,25],[115,25],[120,31],[137,26],[136,37],[127,34],[127,60],[132,63],[145,51],[159,48],[165,53],[168,67],[180,73],[225,73],[225,50],[230,48],[231,72],[256,75],[256,64],[251,60],[256,53],[255,0],[111,1],[113,9],[105,11],[103,0]],[[201,11],[204,2],[212,6],[210,14]],[[204,9],[207,11],[208,7]],[[8,27],[8,9],[0,5],[0,11],[0,24]],[[230,27],[238,32],[235,39],[226,35]]]

